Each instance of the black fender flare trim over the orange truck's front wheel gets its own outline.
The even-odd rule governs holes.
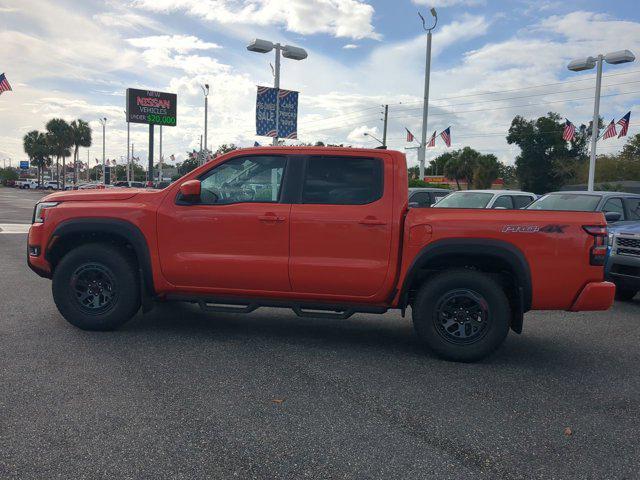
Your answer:
[[[149,245],[142,231],[133,223],[115,218],[76,218],[61,222],[53,231],[51,238],[61,238],[66,235],[107,233],[124,238],[131,246],[138,258],[140,280],[143,296],[155,296],[153,286],[153,271]],[[45,252],[45,258],[48,255]],[[49,258],[47,258],[49,260]]]

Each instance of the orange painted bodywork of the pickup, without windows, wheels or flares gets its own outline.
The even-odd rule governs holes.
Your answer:
[[[301,201],[184,204],[180,186],[239,156],[373,158],[382,162],[380,198],[364,205]],[[287,167],[289,169],[289,167]],[[286,175],[286,174],[285,174]],[[285,182],[286,183],[286,182]],[[501,242],[521,255],[530,275],[531,308],[600,310],[611,304],[601,266],[590,264],[593,237],[584,225],[606,225],[600,213],[533,210],[408,209],[402,153],[327,147],[236,150],[164,190],[60,192],[34,224],[29,255],[50,276],[46,252],[65,222],[113,219],[138,229],[148,249],[152,289],[168,294],[238,296],[402,306],[416,259],[450,241]]]

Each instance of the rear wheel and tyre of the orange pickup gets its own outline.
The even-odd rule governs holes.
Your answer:
[[[509,301],[489,275],[453,270],[428,280],[413,304],[413,325],[438,356],[457,362],[480,360],[509,333]]]

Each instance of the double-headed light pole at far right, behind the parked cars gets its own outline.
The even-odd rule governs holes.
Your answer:
[[[593,192],[595,176],[596,176],[596,145],[600,133],[599,120],[600,120],[600,89],[602,86],[602,61],[612,65],[618,65],[620,63],[633,62],[636,59],[635,55],[629,50],[619,50],[617,52],[610,52],[606,55],[599,54],[597,57],[587,57],[572,60],[567,65],[567,68],[572,72],[582,72],[584,70],[591,70],[596,67],[596,94],[593,102],[593,120],[591,123],[591,156],[589,158],[589,182],[587,184],[587,190]]]

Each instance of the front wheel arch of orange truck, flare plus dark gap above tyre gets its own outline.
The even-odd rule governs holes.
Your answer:
[[[126,220],[112,218],[66,220],[53,231],[44,255],[53,270],[60,259],[75,246],[100,241],[130,247],[140,271],[143,294],[155,296],[149,245],[142,231]]]

